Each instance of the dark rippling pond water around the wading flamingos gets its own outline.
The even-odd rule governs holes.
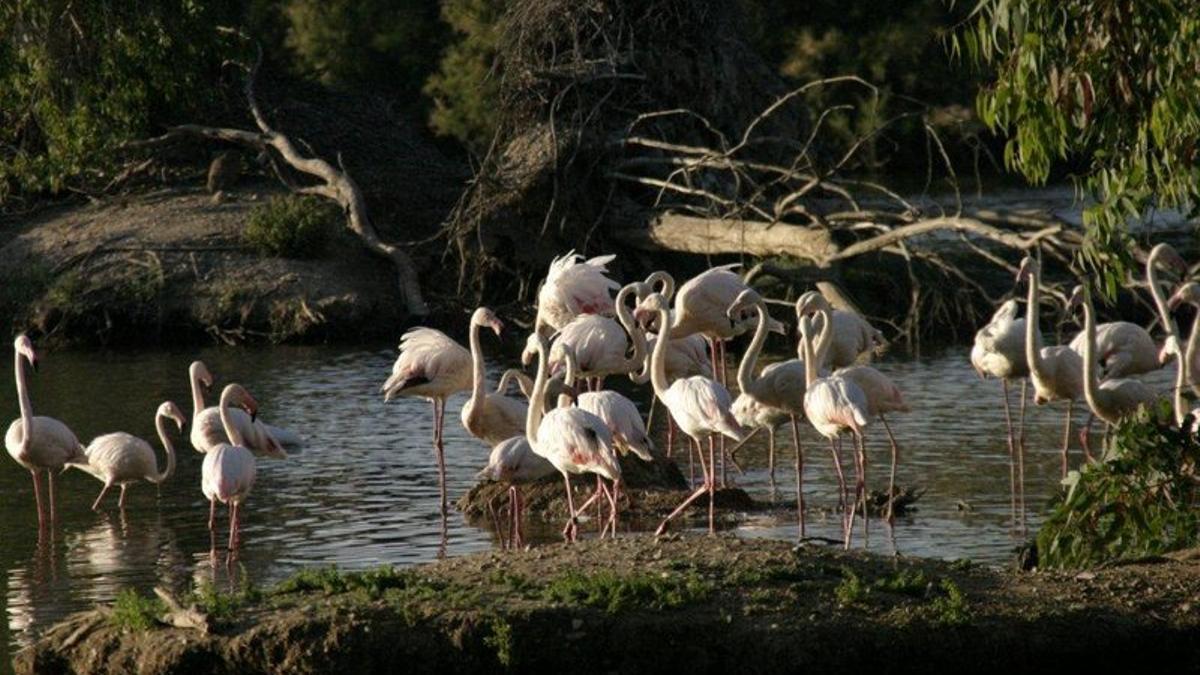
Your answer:
[[[307,441],[289,460],[259,461],[258,483],[244,512],[242,550],[235,560],[227,560],[223,550],[210,556],[200,455],[186,438],[174,438],[175,477],[161,495],[150,484],[132,486],[124,516],[116,509],[115,492],[106,497],[102,513],[90,510],[98,480],[74,470],[59,477],[59,524],[41,542],[29,473],[0,458],[0,608],[6,617],[0,622],[0,650],[25,645],[67,614],[109,602],[127,586],[149,592],[155,585],[186,590],[198,583],[218,587],[244,580],[271,584],[301,567],[414,565],[442,552],[430,405],[409,399],[385,405],[378,394],[395,358],[392,350],[214,348],[198,356],[217,378],[215,390],[235,375],[258,399],[264,419]],[[154,438],[157,449],[152,419],[157,405],[170,399],[191,412],[186,371],[197,358],[194,352],[49,352],[42,357],[41,372],[30,381],[34,410],[65,420],[84,442],[125,430]],[[0,411],[11,419],[18,414],[12,360],[2,362]],[[494,378],[499,364],[492,366]],[[878,366],[900,384],[913,407],[912,413],[892,419],[904,453],[899,483],[925,490],[918,510],[898,520],[894,545],[904,555],[1009,560],[1020,537],[1010,532],[1008,520],[1000,384],[976,377],[965,348]],[[1147,381],[1165,389],[1171,375],[1160,371]],[[448,405],[451,501],[472,486],[474,472],[487,456],[487,448],[467,436],[458,422],[463,399]],[[644,401],[644,393],[640,399]],[[1030,406],[1026,491],[1031,510],[1038,510],[1057,485],[1062,413],[1061,406]],[[766,498],[766,435],[761,436],[742,455],[746,473],[734,476],[739,485]],[[790,434],[779,438],[778,498],[794,498]],[[810,534],[835,538],[838,516],[818,514],[836,501],[828,446],[811,429],[804,429],[803,438],[805,492],[814,513]],[[871,485],[882,488],[886,437],[875,434],[869,443]],[[1076,449],[1073,462],[1078,455]],[[218,531],[226,532],[226,525],[222,508]],[[756,515],[738,532],[792,538],[794,522]],[[451,513],[444,552],[485,550],[493,540],[487,530]],[[890,551],[882,524],[872,525],[870,544]],[[0,655],[0,663],[7,663],[8,656]]]

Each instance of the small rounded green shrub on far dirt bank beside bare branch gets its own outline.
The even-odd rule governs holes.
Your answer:
[[[263,256],[316,258],[337,217],[337,208],[317,197],[274,197],[250,213],[242,239]]]

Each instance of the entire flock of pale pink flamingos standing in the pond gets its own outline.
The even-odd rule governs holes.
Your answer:
[[[667,455],[672,453],[676,428],[691,442],[700,459],[703,479],[679,507],[659,526],[658,533],[696,500],[708,496],[708,526],[714,527],[713,495],[718,483],[718,446],[724,468],[724,438],[744,441],[751,432],[769,434],[769,461],[774,471],[775,431],[790,424],[796,447],[796,484],[799,536],[805,536],[804,450],[799,424],[806,420],[829,440],[838,474],[844,543],[851,545],[856,515],[862,513],[866,528],[865,434],[878,420],[890,442],[889,495],[894,495],[898,443],[887,416],[906,412],[900,389],[884,374],[865,365],[882,344],[882,334],[859,315],[835,310],[816,291],[796,301],[797,358],[767,365],[757,374],[756,362],[769,331],[785,333],[784,324],[770,318],[766,300],[732,271],[736,265],[709,269],[676,288],[674,279],[655,271],[644,281],[620,286],[607,276],[613,256],[583,259],[574,251],[556,258],[538,293],[538,315],[522,354],[524,365],[536,363],[532,380],[521,370],[509,370],[496,390],[488,390],[480,329],[497,335],[504,328],[494,312],[475,310],[470,319],[469,350],[432,328],[414,328],[401,339],[400,357],[382,387],[385,400],[395,396],[426,399],[433,406],[433,446],[437,458],[443,518],[446,510],[445,466],[442,430],[446,399],[469,392],[462,408],[462,424],[492,447],[481,478],[511,484],[511,534],[521,540],[520,483],[558,472],[566,486],[569,518],[563,534],[574,540],[578,514],[593,503],[608,504],[601,537],[617,531],[622,468],[618,455],[632,453],[650,461],[653,443],[637,407],[624,395],[604,389],[610,376],[628,376],[635,383],[649,382],[654,400],[668,412]],[[1044,346],[1038,327],[1040,268],[1032,257],[1020,265],[1016,280],[1027,283],[1026,316],[1019,317],[1015,299],[1006,301],[978,331],[971,363],[982,377],[998,378],[1004,390],[1008,449],[1013,477],[1013,509],[1024,518],[1024,417],[1026,388],[1032,382],[1034,402],[1066,401],[1067,416],[1062,442],[1062,470],[1068,470],[1072,440],[1072,412],[1082,399],[1092,416],[1115,424],[1140,406],[1159,399],[1146,384],[1129,378],[1176,362],[1172,404],[1176,422],[1184,424],[1189,413],[1183,392],[1200,393],[1200,369],[1195,350],[1200,344],[1200,285],[1181,283],[1168,299],[1158,267],[1164,265],[1186,279],[1188,268],[1166,244],[1156,246],[1146,262],[1151,295],[1158,321],[1165,331],[1162,346],[1150,333],[1129,322],[1097,324],[1088,292],[1076,286],[1067,312],[1082,307],[1084,330],[1069,345]],[[616,292],[616,294],[613,294]],[[673,300],[673,306],[671,301]],[[1171,318],[1181,304],[1198,307],[1196,319],[1184,344]],[[632,306],[631,306],[632,305]],[[742,333],[754,338],[737,369],[738,390],[726,389],[725,342]],[[664,339],[664,336],[666,336]],[[160,470],[150,444],[124,432],[107,434],[86,447],[71,429],[52,417],[34,416],[26,383],[28,364],[37,369],[37,353],[25,335],[13,342],[20,418],[5,435],[8,454],[32,474],[40,526],[54,520],[54,476],[65,467],[83,470],[103,483],[92,504],[98,509],[108,490],[120,486],[119,506],[132,483],[162,483],[175,470],[175,452],[168,422],[180,431],[186,416],[173,402],[163,402],[155,425],[166,449],[167,465]],[[299,437],[257,418],[258,405],[239,384],[228,384],[220,405],[206,407],[204,392],[212,376],[203,363],[190,368],[192,428],[190,442],[204,453],[200,489],[209,500],[209,530],[215,537],[217,502],[229,507],[229,549],[239,545],[240,509],[254,485],[256,455],[286,458],[284,446]],[[509,396],[516,381],[524,399]],[[1009,405],[1010,382],[1021,382],[1018,431],[1014,432]],[[1091,460],[1088,428],[1080,434],[1085,456]],[[851,456],[854,488],[850,490],[841,466],[841,441],[853,442]],[[707,452],[703,444],[707,444]],[[47,473],[48,512],[43,506],[40,473]],[[596,489],[576,507],[571,491],[572,474],[595,474]],[[1018,478],[1020,477],[1020,478]],[[607,480],[607,483],[606,483]],[[859,512],[862,507],[862,512]],[[892,518],[890,506],[887,513]]]

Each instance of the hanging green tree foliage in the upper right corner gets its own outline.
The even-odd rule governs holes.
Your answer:
[[[1044,183],[1085,162],[1080,263],[1111,295],[1129,259],[1124,225],[1200,197],[1200,4],[1195,0],[979,0],[952,49],[994,71],[977,109],[1009,132],[1004,161]]]

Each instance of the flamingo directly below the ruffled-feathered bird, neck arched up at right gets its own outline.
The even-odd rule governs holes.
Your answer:
[[[568,348],[577,359],[580,366],[577,375],[590,380],[593,389],[601,387],[605,376],[630,374],[642,366],[646,360],[646,335],[635,324],[626,304],[637,286],[637,283],[626,285],[617,293],[614,309],[618,321],[599,315],[581,315],[559,330],[550,348],[552,374],[557,375],[566,368],[563,352]],[[626,357],[630,340],[634,344],[634,353]]]

